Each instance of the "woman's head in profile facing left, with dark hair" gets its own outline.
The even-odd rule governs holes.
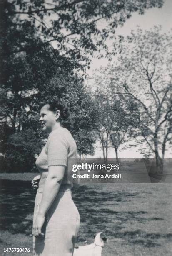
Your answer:
[[[40,122],[42,129],[49,133],[58,125],[70,130],[69,110],[60,100],[43,102],[40,104]]]

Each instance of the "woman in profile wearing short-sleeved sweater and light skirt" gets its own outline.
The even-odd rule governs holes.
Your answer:
[[[72,200],[76,143],[64,126],[68,110],[60,102],[41,105],[40,122],[49,134],[36,161],[41,174],[33,216],[33,254],[72,256],[80,214]]]

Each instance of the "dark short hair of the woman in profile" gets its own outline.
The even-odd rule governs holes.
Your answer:
[[[46,102],[41,102],[40,103],[40,110],[43,106],[48,105],[49,108],[48,110],[56,112],[57,110],[60,110],[60,123],[62,127],[67,128],[70,131],[70,112],[69,109],[67,108],[67,105],[62,102],[62,100],[47,100]]]

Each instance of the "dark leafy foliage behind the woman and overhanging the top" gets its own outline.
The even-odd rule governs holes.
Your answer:
[[[24,159],[28,159],[27,166],[32,165],[33,152],[30,160],[27,157],[30,152],[27,131],[32,138],[38,135],[40,140],[44,138],[37,125],[37,107],[46,97],[58,97],[67,102],[72,110],[72,132],[80,154],[92,154],[97,114],[91,97],[83,89],[82,79],[75,77],[75,71],[81,69],[84,72],[86,67],[89,68],[89,58],[94,51],[100,50],[100,46],[109,58],[116,53],[115,47],[109,52],[106,40],[110,38],[117,42],[115,29],[123,25],[133,12],[142,14],[147,8],[161,6],[162,0],[133,0],[130,3],[113,0],[2,0],[0,140],[5,159],[11,159],[11,163],[16,159],[17,166],[25,144],[28,148]],[[105,20],[103,27],[100,26],[101,20]],[[119,42],[122,42],[122,37]],[[19,142],[23,140],[21,146],[16,146],[17,138]],[[36,152],[37,143],[32,147]],[[26,166],[23,161],[22,166]],[[10,169],[9,163],[10,160],[6,166]]]

